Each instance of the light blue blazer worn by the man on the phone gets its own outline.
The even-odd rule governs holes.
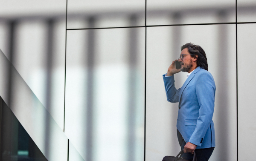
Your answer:
[[[175,88],[174,76],[163,75],[163,81],[167,100],[179,102],[177,129],[183,139],[197,149],[215,147],[212,115],[216,87],[212,75],[197,67],[179,89]]]

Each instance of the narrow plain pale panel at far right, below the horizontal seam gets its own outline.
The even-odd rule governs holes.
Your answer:
[[[256,43],[256,24],[237,25],[238,48],[238,160],[254,159],[251,155],[252,139],[256,135],[255,103],[256,95],[255,75],[252,70],[256,68],[256,55],[253,47]],[[246,57],[247,53],[250,53]]]

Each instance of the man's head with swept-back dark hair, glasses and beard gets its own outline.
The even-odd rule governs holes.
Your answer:
[[[208,63],[204,49],[193,43],[181,46],[180,64],[182,72],[192,72],[196,67],[208,70]]]

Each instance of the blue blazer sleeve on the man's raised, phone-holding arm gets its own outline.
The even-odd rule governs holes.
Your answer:
[[[170,77],[165,77],[165,74],[163,75],[163,83],[166,90],[167,101],[172,103],[179,102],[180,93],[180,88],[176,89],[174,82],[174,75]]]

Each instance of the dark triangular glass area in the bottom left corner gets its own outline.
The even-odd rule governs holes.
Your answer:
[[[2,98],[0,115],[1,161],[47,161]]]

